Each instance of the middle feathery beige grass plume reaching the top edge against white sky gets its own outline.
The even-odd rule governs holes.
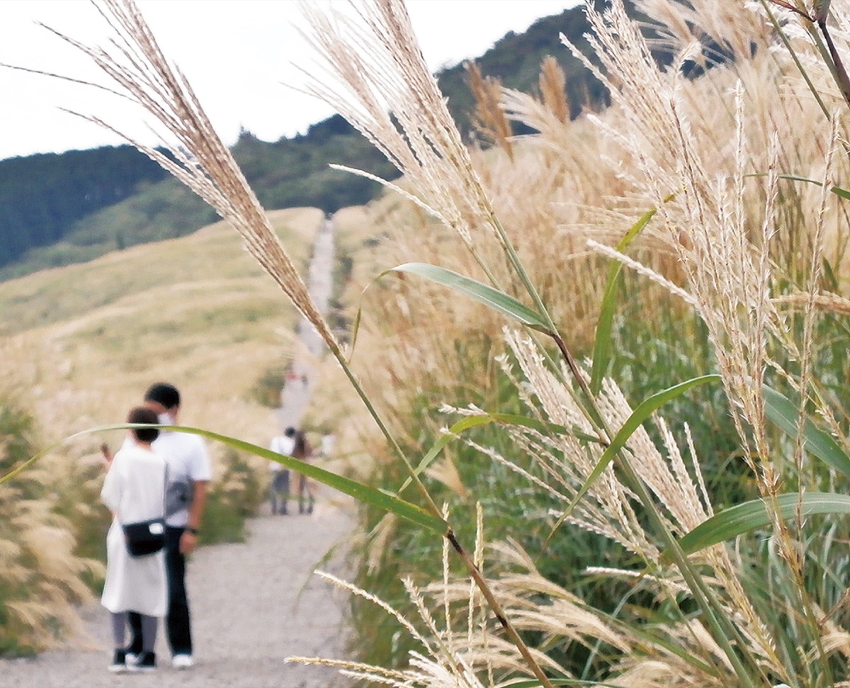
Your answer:
[[[355,3],[356,15],[309,7],[306,36],[324,60],[308,90],[358,128],[405,174],[424,206],[467,247],[494,230],[490,198],[416,44],[399,0]]]

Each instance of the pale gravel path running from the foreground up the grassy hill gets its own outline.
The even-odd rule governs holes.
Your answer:
[[[316,236],[308,286],[326,309],[331,291],[330,222]],[[299,336],[309,352],[294,361],[297,384],[287,384],[279,416],[297,424],[309,401],[310,356],[321,341],[303,322]],[[311,381],[309,381],[311,382]],[[291,511],[292,513],[292,511]],[[81,647],[44,652],[35,659],[0,660],[2,688],[344,688],[336,669],[286,663],[286,657],[344,657],[345,596],[314,570],[346,577],[343,543],[354,528],[351,503],[319,486],[312,515],[263,515],[248,522],[245,543],[203,547],[192,555],[188,589],[195,666],[171,667],[164,628],[156,640],[159,668],[150,674],[110,674],[108,613],[95,603],[82,611],[91,638]],[[335,549],[336,548],[336,549]],[[321,561],[326,553],[334,553]]]

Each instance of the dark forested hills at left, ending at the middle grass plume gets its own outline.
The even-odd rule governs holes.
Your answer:
[[[339,116],[274,143],[243,131],[232,150],[265,208],[333,213],[377,195],[377,182],[332,170],[331,163],[384,179],[398,175]],[[0,279],[184,236],[215,219],[131,146],[11,158],[0,162]]]

